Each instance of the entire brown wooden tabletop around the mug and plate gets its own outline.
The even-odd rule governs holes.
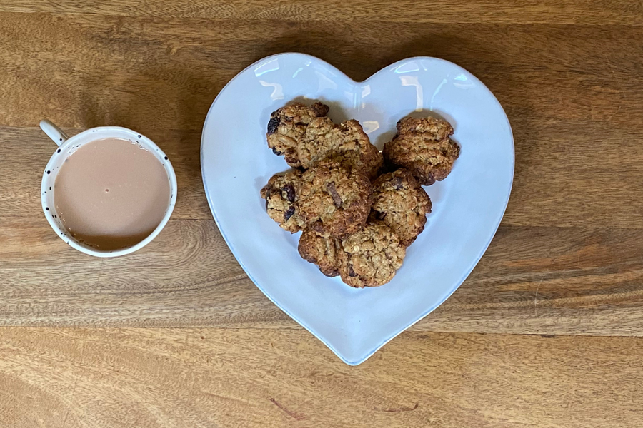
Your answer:
[[[201,185],[211,101],[282,51],[356,80],[446,58],[514,130],[487,254],[358,367],[254,287]],[[638,1],[1,1],[0,426],[640,427],[642,81]],[[153,243],[99,260],[54,235],[41,118],[171,156],[179,201]]]

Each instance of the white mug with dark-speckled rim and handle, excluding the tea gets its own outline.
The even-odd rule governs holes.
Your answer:
[[[71,245],[71,247],[76,248],[76,250],[82,251],[83,253],[94,255],[96,257],[116,257],[119,255],[125,255],[133,253],[139,248],[143,248],[145,245],[149,244],[151,240],[156,238],[156,235],[159,235],[159,232],[164,228],[167,221],[169,220],[172,211],[174,210],[174,205],[176,204],[176,174],[174,173],[174,168],[169,159],[161,151],[161,149],[156,146],[149,138],[136,133],[128,128],[121,128],[120,126],[99,126],[97,128],[91,128],[86,131],[83,131],[79,134],[76,134],[73,137],[68,137],[63,131],[61,131],[57,126],[55,126],[50,121],[41,121],[40,128],[44,133],[49,136],[59,147],[51,155],[49,163],[44,170],[42,175],[42,185],[41,185],[41,203],[42,210],[44,215],[51,225],[51,228],[54,229],[56,234],[64,240],[66,243]],[[101,251],[96,250],[96,248],[91,248],[88,245],[84,245],[76,240],[71,234],[69,234],[62,224],[60,216],[56,213],[56,205],[54,204],[54,182],[56,180],[56,175],[58,175],[61,165],[64,163],[65,159],[71,156],[76,150],[84,146],[86,143],[91,141],[96,141],[101,138],[124,138],[130,141],[136,141],[139,145],[143,146],[151,153],[154,153],[159,161],[164,165],[169,178],[169,187],[170,187],[170,200],[167,210],[165,212],[163,220],[156,226],[154,232],[152,232],[147,238],[141,240],[141,242],[132,245],[131,247],[121,248],[119,250],[113,251]]]

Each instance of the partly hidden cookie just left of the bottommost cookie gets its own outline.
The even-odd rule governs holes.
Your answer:
[[[324,238],[314,230],[306,229],[299,238],[298,250],[304,260],[317,265],[324,275],[329,277],[339,275],[339,256],[342,254],[342,244],[337,238]]]

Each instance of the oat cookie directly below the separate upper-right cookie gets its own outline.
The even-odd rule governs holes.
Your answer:
[[[369,221],[389,226],[405,247],[424,230],[428,213],[431,213],[429,195],[409,171],[399,169],[380,175],[373,183]]]

